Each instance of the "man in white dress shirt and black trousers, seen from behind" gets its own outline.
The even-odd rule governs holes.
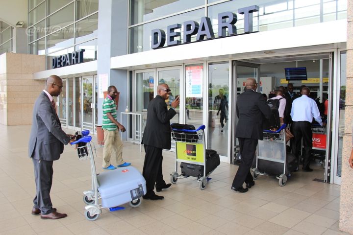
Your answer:
[[[293,153],[298,158],[301,150],[303,138],[303,171],[312,171],[310,168],[310,151],[312,149],[312,119],[323,125],[319,109],[315,100],[308,97],[310,90],[304,87],[301,92],[302,96],[293,101],[291,117],[293,120],[292,133],[294,135]]]

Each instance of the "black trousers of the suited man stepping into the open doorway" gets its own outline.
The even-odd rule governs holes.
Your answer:
[[[237,173],[235,174],[232,186],[234,188],[241,188],[245,183],[253,181],[250,168],[252,166],[253,158],[258,140],[248,138],[238,138],[240,145],[240,165]]]

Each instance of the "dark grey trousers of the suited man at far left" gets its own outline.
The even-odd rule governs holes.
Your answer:
[[[49,214],[53,211],[50,199],[53,161],[39,161],[32,158],[32,162],[34,166],[34,178],[36,183],[36,196],[33,199],[33,207],[40,209],[42,214]]]

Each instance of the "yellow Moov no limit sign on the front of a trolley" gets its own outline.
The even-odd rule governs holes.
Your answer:
[[[203,143],[176,142],[176,158],[178,160],[203,163]]]

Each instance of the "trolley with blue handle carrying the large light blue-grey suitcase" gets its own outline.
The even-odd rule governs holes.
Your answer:
[[[79,160],[89,159],[91,163],[92,188],[83,192],[83,201],[87,204],[86,219],[96,220],[102,213],[102,208],[117,211],[124,209],[118,206],[127,202],[131,207],[140,206],[140,197],[146,194],[146,181],[141,173],[136,168],[127,166],[97,174],[94,160],[97,152],[93,143],[92,147],[92,137],[88,135],[88,130],[78,132],[76,135],[78,140],[70,143],[76,144]]]

